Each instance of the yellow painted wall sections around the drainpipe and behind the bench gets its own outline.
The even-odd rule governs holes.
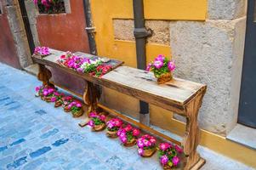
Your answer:
[[[146,20],[206,20],[207,0],[145,0]],[[119,59],[125,65],[136,67],[135,43],[114,38],[113,19],[133,19],[132,0],[94,0],[91,1],[95,40],[98,54]],[[171,47],[149,43],[146,45],[147,62],[157,54],[171,55]],[[110,89],[104,90],[104,100],[119,111],[138,116],[138,100],[118,94]],[[125,104],[125,105],[124,105]],[[151,123],[182,135],[185,125],[173,119],[173,114],[151,105]],[[249,150],[223,137],[202,130],[201,144],[226,156],[256,167],[255,150]]]

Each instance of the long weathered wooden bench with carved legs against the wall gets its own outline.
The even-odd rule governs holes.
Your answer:
[[[179,78],[174,78],[170,82],[158,85],[153,74],[128,66],[121,66],[122,62],[118,61],[113,61],[113,63],[115,63],[115,69],[105,74],[105,76],[101,78],[91,77],[88,74],[82,74],[57,64],[56,60],[63,52],[51,50],[51,53],[51,55],[48,55],[43,59],[39,56],[32,57],[33,60],[40,65],[38,79],[41,80],[43,84],[50,84],[49,79],[51,77],[51,73],[45,65],[59,68],[76,77],[81,77],[88,82],[83,94],[83,100],[88,104],[89,111],[95,111],[100,106],[104,110],[109,111],[116,116],[120,116],[151,133],[156,133],[156,135],[169,139],[176,144],[180,144],[179,141],[170,139],[151,129],[151,127],[147,127],[139,122],[128,119],[104,105],[98,104],[100,96],[97,96],[95,84],[117,90],[122,94],[128,94],[151,105],[157,105],[168,111],[174,111],[181,116],[185,116],[185,135],[181,142],[186,155],[185,169],[199,169],[205,163],[205,160],[197,153],[196,148],[199,144],[197,116],[202,105],[202,98],[206,93],[206,85]]]

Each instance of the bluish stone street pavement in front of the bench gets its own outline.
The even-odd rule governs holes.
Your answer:
[[[156,154],[141,158],[104,132],[79,127],[61,108],[34,97],[41,82],[0,64],[0,170],[2,169],[162,169]],[[199,147],[202,169],[253,169]]]

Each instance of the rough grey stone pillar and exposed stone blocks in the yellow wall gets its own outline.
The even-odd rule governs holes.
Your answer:
[[[205,21],[145,22],[154,31],[149,43],[170,45],[177,65],[174,75],[208,85],[200,127],[224,136],[237,122],[246,6],[245,0],[209,0]],[[133,20],[114,20],[113,27],[117,40],[134,41]]]

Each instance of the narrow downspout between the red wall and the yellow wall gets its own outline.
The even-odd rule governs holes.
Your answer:
[[[92,20],[91,8],[90,8],[90,0],[83,0],[83,10],[85,14],[86,28],[85,30],[88,33],[88,43],[90,48],[90,53],[96,55],[96,42],[94,39],[95,27]]]

